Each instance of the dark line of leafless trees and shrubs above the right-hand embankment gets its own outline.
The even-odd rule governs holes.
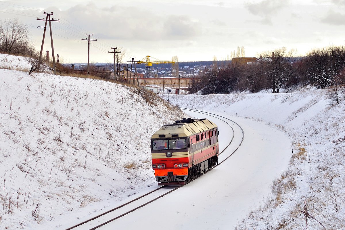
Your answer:
[[[255,62],[231,61],[227,65],[206,68],[192,81],[192,92],[203,94],[248,91],[288,92],[296,87],[312,85],[317,89],[345,82],[345,47],[315,48],[304,57],[296,57],[295,49],[286,47],[260,53]]]

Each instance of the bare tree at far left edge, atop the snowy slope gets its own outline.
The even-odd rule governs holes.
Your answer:
[[[30,42],[29,26],[18,18],[0,23],[0,52],[31,55],[34,52]]]

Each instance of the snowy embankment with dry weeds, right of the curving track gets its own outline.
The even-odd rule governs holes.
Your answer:
[[[170,96],[180,107],[265,122],[293,141],[289,166],[273,182],[272,193],[236,229],[305,229],[306,223],[310,229],[345,228],[345,101],[332,106],[328,94]]]

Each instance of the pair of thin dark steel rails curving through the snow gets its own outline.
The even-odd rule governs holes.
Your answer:
[[[218,116],[218,117],[225,118],[225,119],[227,119],[227,120],[229,120],[229,121],[231,121],[231,122],[237,124],[237,123],[234,122],[233,120],[230,120],[230,119],[228,119],[228,118],[226,118],[226,117],[219,116],[219,115],[217,115],[217,114],[213,114],[213,113],[209,113],[209,112],[204,112],[204,111],[199,111],[199,110],[194,110],[194,109],[188,109],[188,108],[180,108],[180,109],[189,110],[189,111],[194,111],[194,112],[198,112],[198,113],[202,113],[202,114],[206,114],[207,116],[214,117],[214,118],[217,118],[217,117],[215,117],[215,116]],[[210,115],[210,114],[213,114],[213,115],[215,115],[215,116],[212,116],[212,115]],[[219,119],[219,118],[218,118],[218,119]],[[220,119],[220,120],[222,120],[222,119]],[[223,120],[223,121],[224,121],[224,120]],[[231,142],[233,142],[234,136],[235,136],[235,131],[234,131],[233,127],[231,127],[231,125],[230,125],[228,122],[226,122],[226,121],[224,121],[224,122],[227,123],[227,124],[230,126],[230,128],[232,129],[232,131],[233,131],[233,137],[231,138],[231,141],[229,142],[229,144],[228,144],[228,145],[224,148],[224,150],[221,151],[218,155],[220,155],[221,153],[223,153],[223,152],[230,146],[230,144],[231,144]],[[126,216],[128,213],[131,213],[131,212],[133,212],[133,211],[135,211],[135,210],[137,210],[137,209],[139,209],[139,208],[141,208],[141,207],[146,206],[146,205],[149,204],[149,203],[152,203],[152,202],[158,200],[158,199],[161,198],[161,197],[166,196],[166,195],[169,194],[170,192],[173,192],[173,191],[175,191],[176,189],[179,189],[179,188],[183,187],[184,185],[186,185],[186,184],[188,184],[188,183],[194,181],[195,179],[197,179],[197,178],[203,176],[203,175],[206,174],[207,172],[209,172],[209,171],[211,171],[212,169],[216,168],[218,165],[220,165],[220,164],[223,163],[225,160],[227,160],[231,155],[233,155],[233,154],[237,151],[237,149],[241,146],[241,144],[242,144],[242,142],[243,142],[243,140],[244,140],[244,131],[243,131],[242,127],[241,127],[239,124],[237,124],[237,126],[238,126],[238,127],[241,129],[241,131],[242,131],[242,140],[241,140],[239,146],[238,146],[238,147],[237,147],[227,158],[225,158],[223,161],[221,161],[220,163],[218,163],[215,167],[211,168],[210,170],[206,171],[206,172],[203,173],[203,174],[200,174],[199,176],[195,177],[193,180],[190,180],[190,181],[188,181],[187,183],[185,183],[185,184],[183,184],[183,185],[180,185],[180,186],[178,186],[178,187],[176,187],[176,188],[174,188],[174,189],[172,189],[172,190],[170,190],[170,191],[168,191],[168,192],[162,194],[161,196],[156,197],[155,199],[152,199],[152,200],[146,202],[145,204],[142,204],[142,205],[140,205],[140,206],[138,206],[138,207],[136,207],[136,208],[134,208],[134,209],[132,209],[132,210],[130,210],[130,211],[124,213],[124,214],[121,214],[120,216],[117,216],[117,217],[115,217],[115,218],[112,218],[111,220],[108,220],[108,221],[106,221],[106,222],[103,222],[103,223],[99,224],[98,226],[93,227],[93,228],[90,228],[90,229],[88,229],[88,230],[95,230],[95,229],[97,229],[97,228],[99,228],[99,227],[101,227],[101,226],[103,226],[103,225],[105,225],[105,224],[108,224],[108,223],[110,223],[110,222],[112,222],[112,221],[114,221],[114,220],[116,220],[116,219],[119,219],[119,218],[121,218],[121,217],[123,217],[123,216]],[[139,199],[141,199],[142,197],[145,197],[145,196],[147,196],[148,194],[150,194],[150,193],[152,193],[152,192],[155,192],[155,191],[157,191],[157,190],[159,190],[159,189],[161,189],[161,188],[163,188],[163,187],[165,187],[165,186],[159,187],[159,188],[157,188],[157,189],[155,189],[155,190],[153,190],[153,191],[151,191],[151,192],[149,192],[149,193],[146,193],[146,194],[144,194],[144,195],[142,195],[142,196],[140,196],[140,197],[138,197],[138,198],[136,198],[136,199],[134,199],[134,200],[132,200],[132,201],[129,201],[129,202],[125,203],[125,204],[122,204],[122,205],[119,206],[119,207],[116,207],[116,208],[111,209],[111,210],[109,210],[109,211],[107,211],[107,212],[104,212],[104,213],[102,213],[102,214],[99,214],[97,217],[93,217],[93,218],[91,218],[91,219],[89,219],[89,220],[83,221],[82,223],[76,224],[75,226],[70,227],[70,228],[65,229],[65,230],[71,230],[71,229],[73,229],[73,228],[76,228],[76,227],[78,227],[78,226],[81,226],[82,224],[85,224],[85,223],[87,223],[87,222],[90,222],[90,221],[92,221],[92,220],[94,220],[94,219],[96,219],[96,218],[98,218],[98,217],[101,217],[101,216],[107,214],[107,213],[110,213],[110,212],[112,212],[112,211],[115,211],[116,209],[119,209],[119,208],[121,208],[121,207],[124,207],[124,206],[126,206],[127,204],[129,204],[129,203],[132,203],[132,202],[134,202],[134,201],[136,201],[136,200],[139,200]]]

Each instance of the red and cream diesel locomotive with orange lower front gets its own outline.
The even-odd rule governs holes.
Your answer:
[[[179,185],[218,164],[218,127],[208,119],[183,118],[151,137],[152,168],[158,185]]]

